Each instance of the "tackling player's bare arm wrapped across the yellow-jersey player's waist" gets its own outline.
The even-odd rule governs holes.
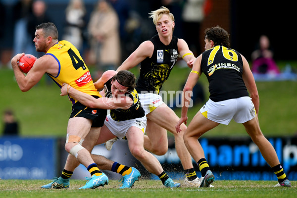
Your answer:
[[[61,96],[71,95],[73,98],[77,99],[79,102],[88,106],[90,108],[100,108],[100,109],[117,109],[123,108],[128,109],[133,104],[131,98],[126,96],[119,96],[117,98],[99,98],[95,99],[91,95],[80,92],[72,88],[68,84],[63,84],[61,88]]]

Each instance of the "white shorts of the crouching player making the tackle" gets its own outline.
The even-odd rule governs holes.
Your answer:
[[[145,133],[147,127],[147,117],[144,116],[141,118],[117,122],[111,118],[110,114],[108,114],[105,118],[104,124],[113,135],[117,136],[119,139],[123,139],[128,129],[132,126],[141,129]]]

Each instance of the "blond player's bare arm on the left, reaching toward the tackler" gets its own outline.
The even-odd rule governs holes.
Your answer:
[[[129,70],[147,57],[151,57],[153,53],[153,44],[150,41],[145,41],[117,68],[116,71]]]

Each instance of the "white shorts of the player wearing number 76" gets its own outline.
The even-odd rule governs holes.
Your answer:
[[[200,108],[200,112],[207,119],[225,125],[228,125],[232,119],[237,123],[245,123],[256,115],[254,104],[249,97],[219,102],[208,99]]]

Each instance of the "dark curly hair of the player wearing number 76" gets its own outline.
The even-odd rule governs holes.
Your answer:
[[[205,39],[213,41],[215,46],[225,46],[230,48],[229,34],[220,26],[207,28],[205,30]]]

